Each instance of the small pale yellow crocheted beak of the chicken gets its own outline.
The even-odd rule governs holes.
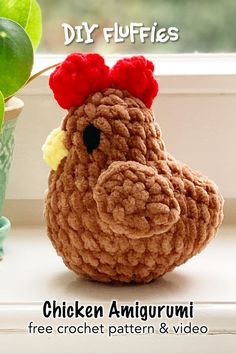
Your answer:
[[[65,135],[65,131],[61,128],[54,129],[42,147],[43,159],[54,171],[57,170],[61,160],[69,152],[64,145]]]

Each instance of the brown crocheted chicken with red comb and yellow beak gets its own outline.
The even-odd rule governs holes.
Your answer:
[[[50,87],[68,109],[43,147],[45,218],[65,265],[102,282],[150,282],[199,253],[223,218],[216,185],[167,153],[142,56],[113,68],[72,53]]]

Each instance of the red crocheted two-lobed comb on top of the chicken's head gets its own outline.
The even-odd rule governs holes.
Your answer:
[[[50,75],[49,85],[62,108],[83,104],[94,92],[108,87],[129,91],[150,108],[158,93],[154,65],[143,56],[119,60],[112,69],[95,53],[72,53]]]

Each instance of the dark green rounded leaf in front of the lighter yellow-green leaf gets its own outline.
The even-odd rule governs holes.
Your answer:
[[[33,47],[16,22],[0,18],[0,90],[12,96],[28,81],[33,66]]]

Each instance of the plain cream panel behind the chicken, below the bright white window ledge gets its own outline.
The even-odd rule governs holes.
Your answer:
[[[16,129],[8,199],[42,199],[48,168],[41,146],[65,114],[42,76],[19,95],[25,102]],[[156,120],[167,149],[236,198],[236,76],[159,76]]]

